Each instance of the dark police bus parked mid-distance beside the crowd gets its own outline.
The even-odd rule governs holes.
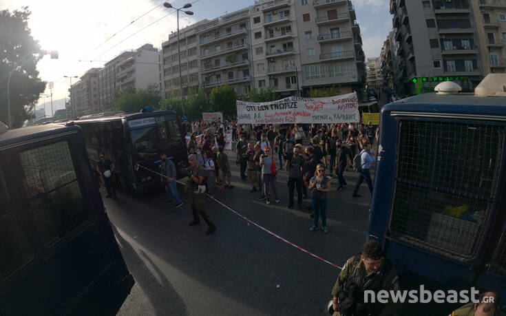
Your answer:
[[[158,171],[161,153],[167,154],[176,168],[188,165],[186,133],[173,111],[96,114],[69,124],[83,129],[92,162],[98,162],[100,153],[114,162],[115,180],[125,191],[145,193],[161,186],[160,176],[134,169],[139,164]]]

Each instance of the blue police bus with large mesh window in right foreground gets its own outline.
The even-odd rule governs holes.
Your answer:
[[[421,94],[381,109],[368,238],[384,247],[401,288],[474,286],[506,298],[505,82],[489,75],[476,95]],[[458,305],[403,304],[400,315],[449,315]]]

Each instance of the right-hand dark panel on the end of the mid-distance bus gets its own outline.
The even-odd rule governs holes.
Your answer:
[[[161,149],[173,161],[185,162],[187,160],[187,145],[183,140],[180,125],[176,116],[156,116],[158,130],[160,131]]]

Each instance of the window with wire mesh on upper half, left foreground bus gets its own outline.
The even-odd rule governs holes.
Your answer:
[[[30,216],[45,246],[52,246],[91,217],[81,195],[67,142],[19,154]]]

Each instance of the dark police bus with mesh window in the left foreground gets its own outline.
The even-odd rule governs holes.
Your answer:
[[[0,123],[0,315],[115,315],[134,285],[79,127]]]

